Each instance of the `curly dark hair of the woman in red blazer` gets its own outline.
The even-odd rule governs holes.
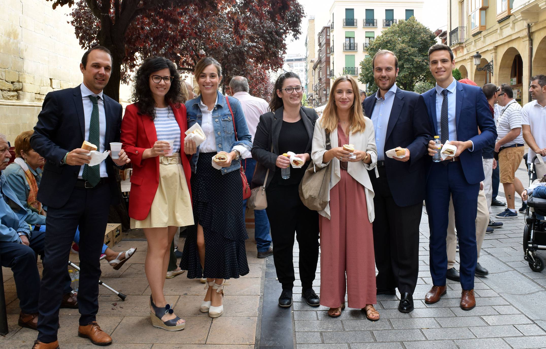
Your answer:
[[[171,81],[169,91],[165,94],[165,102],[174,104],[175,108],[180,108],[182,101],[180,95],[180,75],[173,62],[164,57],[147,58],[144,63],[136,70],[135,82],[133,86],[132,102],[136,103],[139,114],[149,115],[152,120],[156,118],[156,102],[150,91],[150,75],[158,70],[169,68],[170,75],[174,76]]]

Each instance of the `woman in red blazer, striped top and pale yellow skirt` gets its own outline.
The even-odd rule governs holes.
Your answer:
[[[121,142],[133,163],[129,217],[148,241],[144,270],[150,284],[152,325],[181,330],[163,294],[171,241],[178,227],[193,224],[188,157],[183,153],[186,108],[180,103],[180,77],[173,62],[147,59],[135,75],[134,104],[125,109]]]

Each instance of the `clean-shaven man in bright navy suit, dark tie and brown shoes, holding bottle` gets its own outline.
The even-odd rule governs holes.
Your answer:
[[[479,182],[484,180],[482,148],[497,137],[495,122],[482,89],[461,84],[452,75],[453,52],[444,44],[429,49],[430,72],[436,87],[422,94],[433,132],[442,145],[456,146],[453,156],[433,162],[426,181],[426,211],[430,226],[430,274],[433,286],[425,296],[432,304],[446,294],[449,197],[453,198],[455,227],[460,246],[461,301],[463,310],[476,306],[474,270],[477,262],[476,220]],[[478,134],[478,127],[482,133]],[[436,153],[434,140],[429,155]]]

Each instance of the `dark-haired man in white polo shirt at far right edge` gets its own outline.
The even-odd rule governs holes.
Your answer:
[[[531,163],[537,154],[546,160],[546,75],[533,76],[529,92],[533,100],[521,110],[521,129],[529,146],[527,163]]]

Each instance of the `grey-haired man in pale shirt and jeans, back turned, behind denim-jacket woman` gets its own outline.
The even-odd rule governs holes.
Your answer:
[[[269,103],[265,99],[251,96],[248,91],[248,80],[244,76],[234,76],[229,82],[229,89],[232,96],[239,99],[242,110],[245,113],[248,131],[254,141],[256,128],[260,121],[260,115],[269,111]],[[254,168],[256,168],[256,160],[247,158],[241,160],[241,165],[245,168],[246,178],[248,183],[252,182]],[[242,201],[243,217],[245,217],[246,201]],[[254,210],[254,239],[258,250],[258,258],[265,258],[273,254],[271,248],[271,235],[269,235],[269,220],[265,210]]]

